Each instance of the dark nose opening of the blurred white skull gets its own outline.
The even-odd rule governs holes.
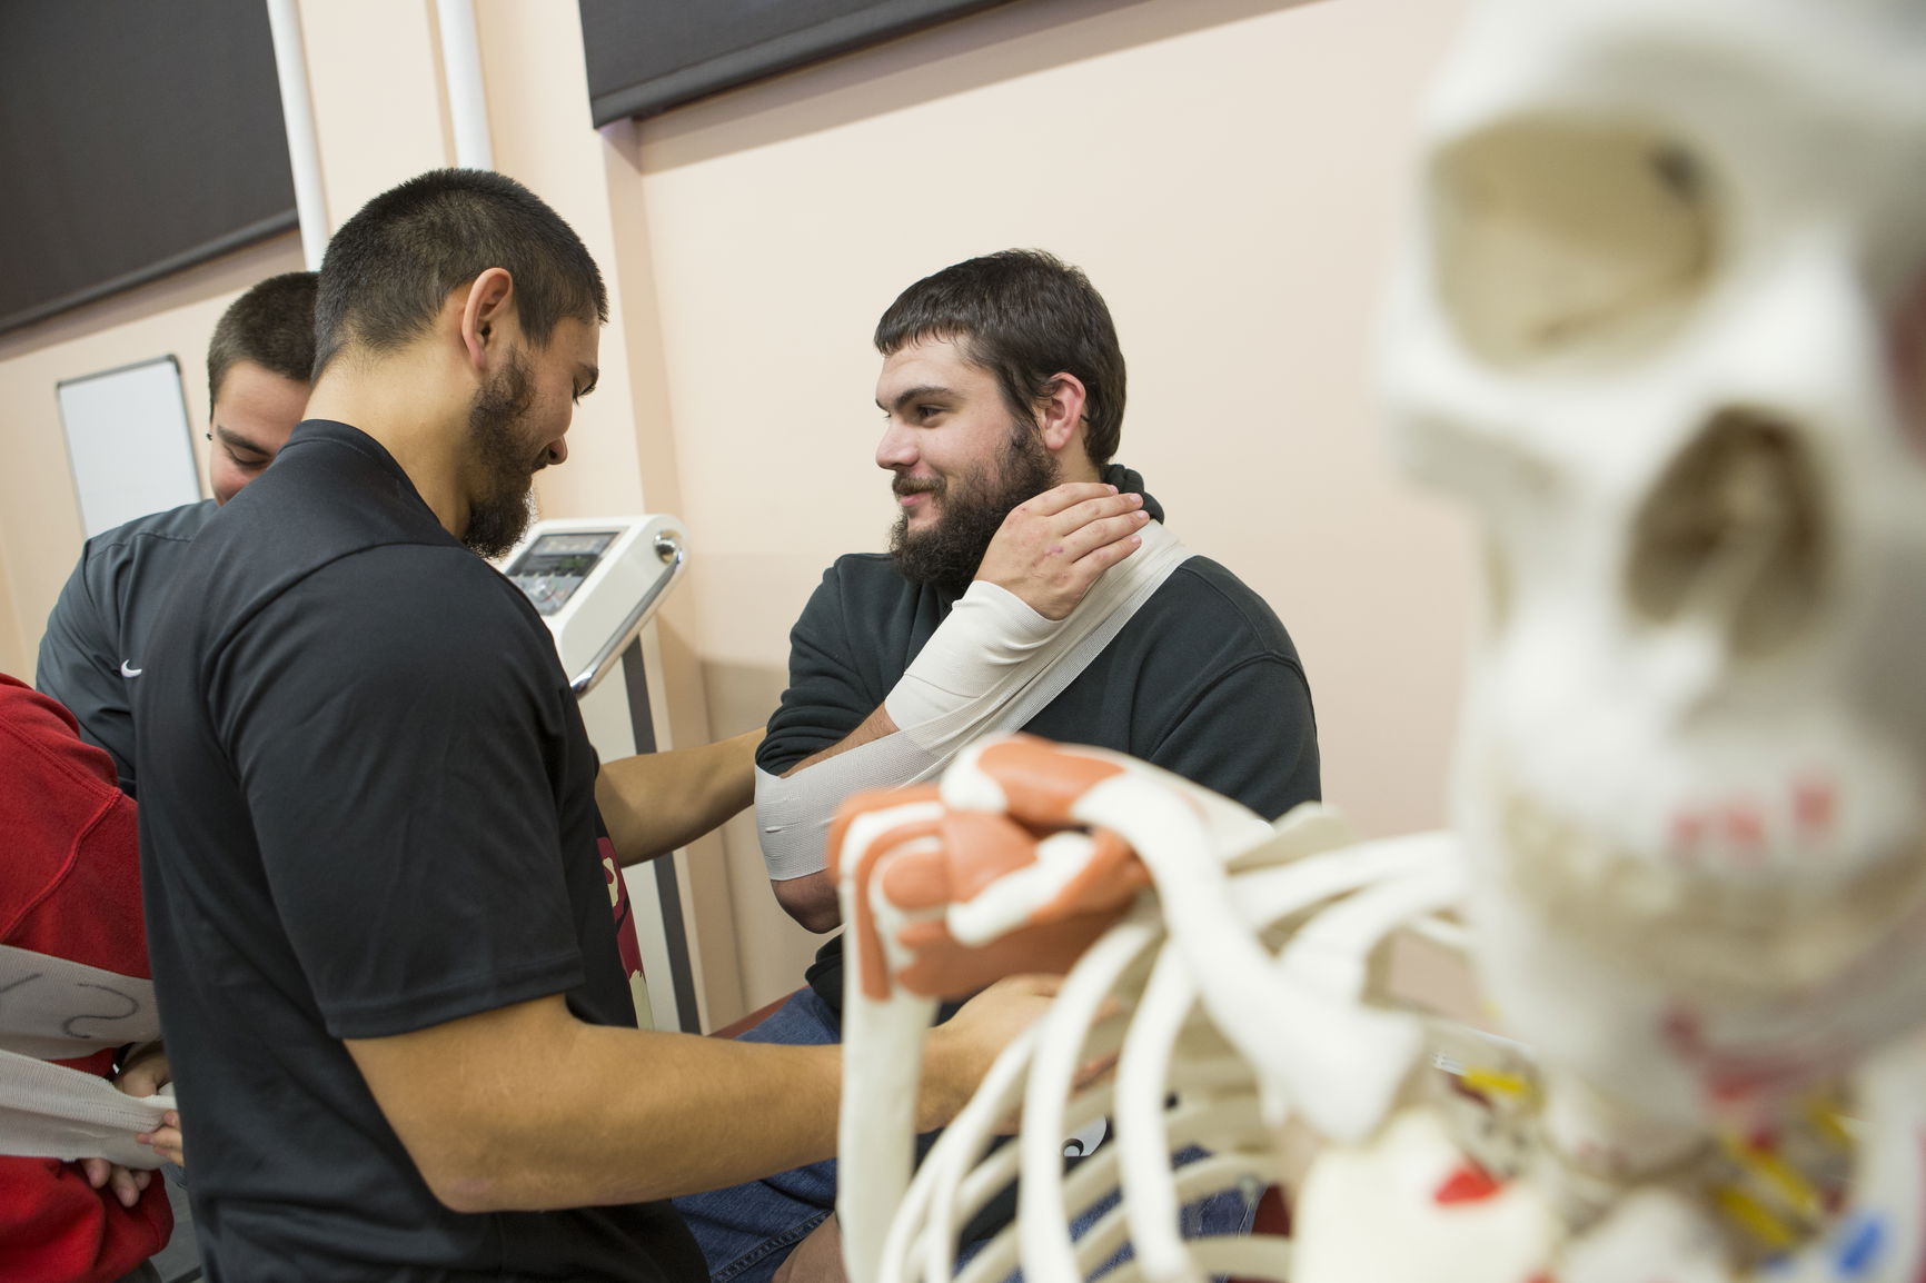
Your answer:
[[[1627,595],[1654,624],[1699,620],[1758,657],[1818,616],[1826,520],[1799,433],[1724,410],[1666,468],[1633,526]]]

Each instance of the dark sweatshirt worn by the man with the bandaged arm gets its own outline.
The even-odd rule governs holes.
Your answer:
[[[1144,495],[1111,464],[1104,480]],[[955,595],[911,584],[882,553],[840,557],[790,632],[790,688],[757,765],[782,774],[855,730],[944,622]],[[1235,574],[1190,557],[1027,732],[1140,757],[1265,819],[1319,798],[1317,719],[1277,613]],[[842,936],[807,982],[842,1009]]]

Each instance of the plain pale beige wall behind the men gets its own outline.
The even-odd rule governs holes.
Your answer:
[[[339,223],[453,158],[433,6],[302,10]],[[822,566],[882,543],[880,310],[957,258],[1038,245],[1117,316],[1121,458],[1296,638],[1329,799],[1366,832],[1439,823],[1466,537],[1391,476],[1369,353],[1412,110],[1458,10],[1028,0],[597,135],[576,6],[482,0],[497,166],[614,293],[603,385],[543,507],[688,520],[663,628],[676,738],[757,724]],[[79,551],[54,380],[156,351],[196,368],[225,301],[293,266],[287,239],[0,339],[0,443],[25,460],[0,470],[0,668],[31,667]],[[747,819],[699,855],[697,907],[738,944],[705,959],[726,1021],[794,988],[815,942],[774,909]]]

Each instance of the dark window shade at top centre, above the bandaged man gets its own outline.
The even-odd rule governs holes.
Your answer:
[[[580,0],[595,125],[1009,0]]]

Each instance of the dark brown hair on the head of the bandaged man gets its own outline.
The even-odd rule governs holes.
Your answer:
[[[1082,380],[1084,451],[1104,466],[1123,435],[1123,351],[1104,295],[1044,250],[984,254],[926,275],[876,322],[876,351],[946,339],[996,376],[1011,414],[1030,418],[1052,378]]]

